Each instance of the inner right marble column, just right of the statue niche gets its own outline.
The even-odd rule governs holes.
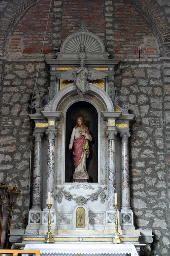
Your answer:
[[[117,131],[107,130],[108,137],[108,207],[113,207],[116,192],[115,140]]]

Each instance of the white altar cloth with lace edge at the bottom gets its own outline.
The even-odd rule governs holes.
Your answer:
[[[56,255],[112,255],[138,256],[133,244],[104,244],[104,243],[78,243],[78,244],[26,244],[25,250],[40,250],[41,256]]]

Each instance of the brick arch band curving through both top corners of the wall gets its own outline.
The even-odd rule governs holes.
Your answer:
[[[40,0],[41,1],[41,0]],[[163,56],[170,56],[170,26],[156,0],[126,0],[134,5],[150,21],[163,49]],[[5,47],[17,20],[27,10],[37,4],[37,0],[9,0],[0,18],[0,56],[5,56]]]

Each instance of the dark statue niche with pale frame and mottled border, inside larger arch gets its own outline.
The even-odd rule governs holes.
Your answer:
[[[72,121],[67,121],[67,116],[71,115],[70,113],[74,112],[74,109],[77,108],[77,113],[73,115],[71,118]],[[83,106],[81,109],[80,107]],[[84,111],[85,109],[85,111]],[[105,121],[101,118],[101,111],[105,110],[105,106],[102,104],[102,102],[93,95],[89,95],[88,93],[85,94],[83,98],[79,97],[78,95],[72,95],[70,97],[66,97],[61,105],[58,108],[58,111],[62,111],[62,120],[58,123],[58,136],[57,136],[57,177],[61,177],[61,181],[57,179],[57,183],[61,184],[68,184],[68,182],[72,183],[72,176],[74,172],[73,168],[73,155],[72,155],[72,149],[71,151],[68,150],[68,145],[70,143],[70,137],[72,129],[76,125],[76,119],[77,115],[81,114],[83,111],[84,113],[88,113],[88,115],[92,116],[85,118],[85,125],[89,128],[89,132],[91,133],[91,136],[93,140],[89,143],[90,145],[90,156],[88,157],[87,162],[87,168],[89,169],[89,166],[91,168],[91,165],[93,165],[93,160],[91,162],[91,158],[95,156],[97,165],[95,166],[95,174],[91,175],[91,181],[95,184],[101,184],[103,180],[105,180],[105,177],[101,176],[101,168],[105,169],[105,160],[102,160],[101,162],[101,154],[103,154],[103,150],[101,149],[101,145],[105,145],[103,148],[106,147],[106,141],[105,137],[103,137],[102,133],[103,130],[105,132],[106,124]],[[90,110],[90,112],[89,112]],[[94,117],[93,117],[94,116]],[[95,129],[94,127],[91,128],[91,120],[95,120]],[[67,126],[70,126],[69,131],[67,132]],[[94,134],[95,133],[95,134]],[[61,143],[62,142],[62,143]],[[94,148],[96,145],[96,148]],[[95,150],[95,151],[94,151]],[[72,157],[72,167],[70,169],[69,167],[69,177],[65,179],[65,162],[68,160],[68,154],[70,154],[70,158]],[[62,160],[62,161],[61,161]],[[69,165],[70,166],[70,165]],[[71,174],[71,175],[70,175]],[[94,182],[95,181],[95,182]]]

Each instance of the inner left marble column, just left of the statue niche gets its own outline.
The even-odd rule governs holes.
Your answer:
[[[51,192],[51,204],[54,205],[54,172],[55,172],[55,137],[57,135],[57,130],[47,130],[45,132],[48,135],[48,153],[47,153],[47,189]],[[46,204],[47,201],[46,193]]]

